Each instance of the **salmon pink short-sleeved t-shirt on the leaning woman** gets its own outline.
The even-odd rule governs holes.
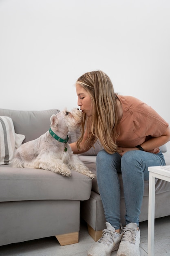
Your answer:
[[[123,108],[123,116],[117,126],[119,147],[135,147],[151,137],[161,136],[168,123],[146,103],[132,96],[117,95]],[[159,153],[159,148],[150,151]]]

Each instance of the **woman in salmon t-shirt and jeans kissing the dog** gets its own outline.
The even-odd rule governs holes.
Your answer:
[[[139,256],[139,215],[148,166],[165,165],[159,150],[170,140],[170,127],[155,110],[131,96],[115,94],[102,71],[88,72],[76,82],[83,112],[82,134],[70,144],[83,153],[99,139],[104,149],[96,158],[97,183],[106,217],[106,229],[88,256]],[[126,225],[120,222],[121,173],[126,204]]]

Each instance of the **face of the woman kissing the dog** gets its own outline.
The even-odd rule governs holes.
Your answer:
[[[92,100],[90,95],[79,83],[76,83],[75,88],[78,96],[77,104],[80,106],[80,110],[87,117],[90,117],[92,115]]]

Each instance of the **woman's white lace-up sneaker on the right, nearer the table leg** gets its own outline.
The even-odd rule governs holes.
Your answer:
[[[123,230],[123,236],[117,256],[140,256],[140,230],[137,230],[137,224],[131,222],[121,229]]]

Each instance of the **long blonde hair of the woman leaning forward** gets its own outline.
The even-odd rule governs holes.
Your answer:
[[[116,102],[117,96],[110,78],[98,70],[85,73],[77,79],[76,83],[88,92],[93,105],[91,117],[83,113],[82,133],[77,140],[78,149],[83,140],[85,128],[88,128],[87,143],[90,142],[93,146],[99,139],[107,153],[115,153],[119,110]]]

